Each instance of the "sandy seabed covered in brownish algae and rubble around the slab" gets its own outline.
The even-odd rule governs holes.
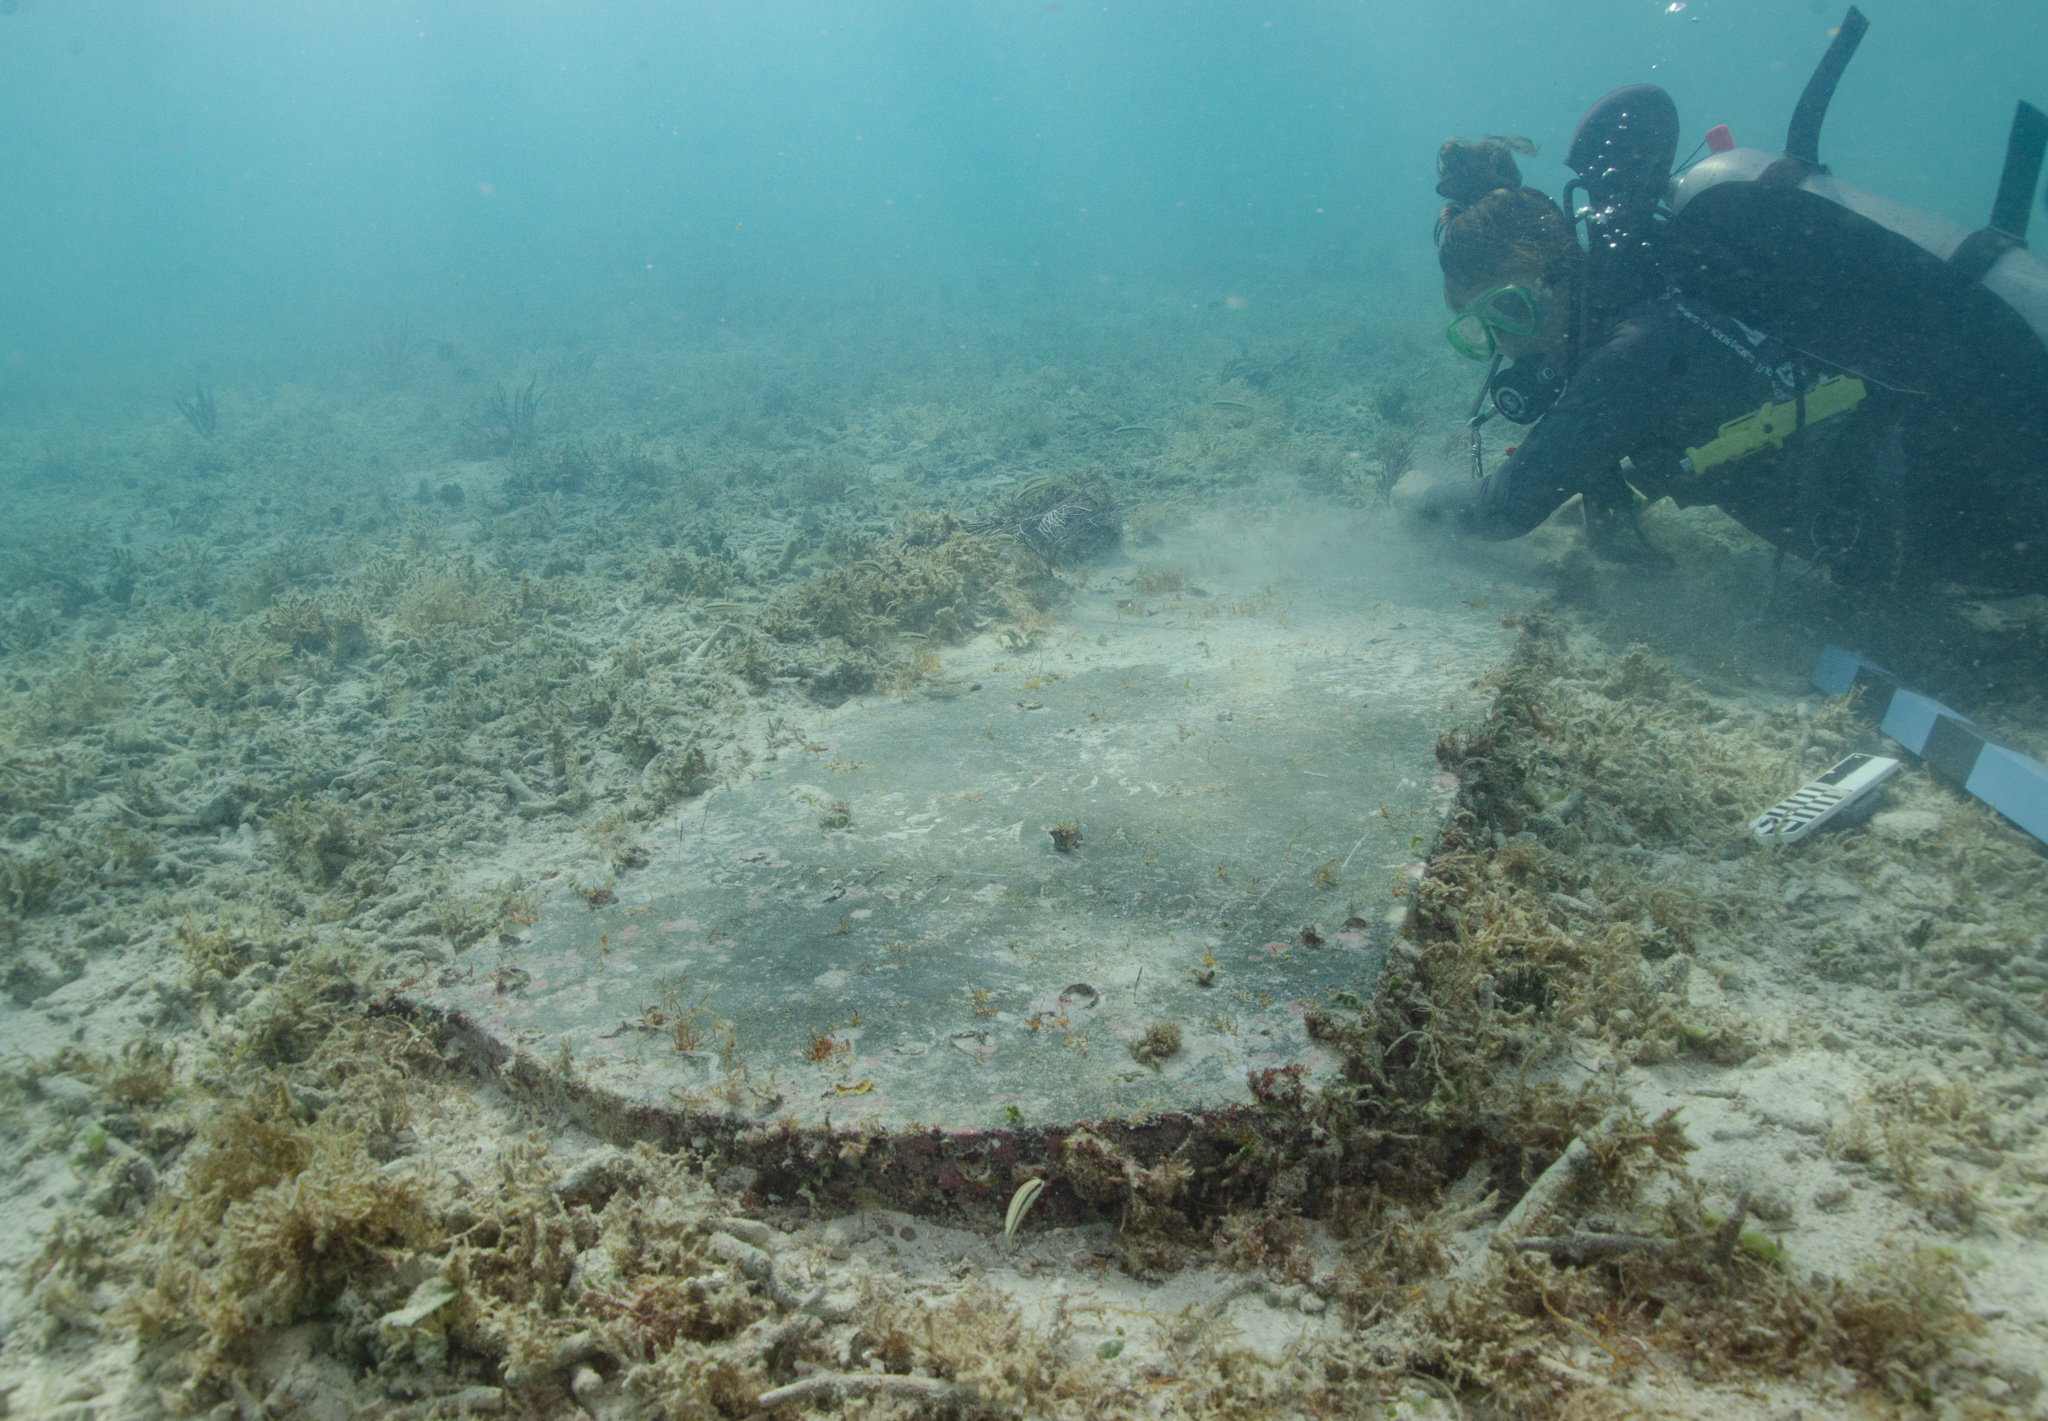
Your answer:
[[[1804,686],[1827,637],[1890,625],[2040,751],[2038,608],[1884,622],[1810,573],[1759,616],[1767,551],[1669,506],[1647,565],[1569,510],[1409,543],[1389,493],[1462,471],[1468,391],[1391,317],[1069,315],[393,324],[223,377],[211,428],[10,405],[6,1415],[2048,1407],[2038,846],[1919,768],[1862,827],[1743,829],[1882,751]],[[1405,913],[1313,1016],[1333,1075],[1038,1128],[905,1212],[909,1145],[784,1118],[743,1042],[725,1124],[635,1143],[573,1059],[408,1007],[823,708],[1028,694],[1077,592],[1284,627],[1300,569],[1219,528],[1413,559],[1520,637],[1440,710],[1421,876],[1323,885]]]

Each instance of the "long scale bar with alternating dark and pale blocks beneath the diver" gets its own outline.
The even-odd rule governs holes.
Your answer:
[[[1898,678],[1853,651],[1829,647],[1812,668],[1812,684],[1829,696],[1864,688],[1864,708],[1878,729],[1919,756],[1944,778],[1985,801],[2036,839],[2048,844],[2048,766],[1985,735],[1970,717],[1933,696],[1907,690]]]

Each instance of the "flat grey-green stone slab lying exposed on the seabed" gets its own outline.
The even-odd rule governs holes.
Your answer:
[[[942,694],[819,713],[416,997],[668,1116],[995,1130],[1321,1073],[1305,1014],[1374,989],[1456,790],[1436,739],[1509,633],[1370,532],[1260,536],[1100,571],[1038,643],[948,653]],[[1233,543],[1255,575],[1214,565]]]

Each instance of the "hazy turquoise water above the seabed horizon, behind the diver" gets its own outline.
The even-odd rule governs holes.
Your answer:
[[[1827,156],[1976,225],[2048,18],[1872,6]],[[0,14],[4,383],[303,377],[412,313],[1032,301],[1053,283],[1399,291],[1430,321],[1432,156],[1673,92],[1776,147],[1821,0],[74,6]],[[1688,141],[1690,147],[1690,141]]]

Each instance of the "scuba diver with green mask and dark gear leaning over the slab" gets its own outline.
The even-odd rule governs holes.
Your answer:
[[[1425,522],[1516,539],[1583,496],[1628,557],[1669,496],[1851,588],[2048,592],[2048,266],[2025,250],[2048,115],[2019,104],[1978,231],[1851,188],[1819,133],[1864,29],[1851,8],[1782,158],[1718,127],[1673,176],[1677,109],[1649,84],[1579,123],[1563,207],[1522,184],[1524,139],[1444,143],[1446,334],[1491,364],[1475,477],[1432,485]],[[1487,473],[1493,414],[1530,428]]]

